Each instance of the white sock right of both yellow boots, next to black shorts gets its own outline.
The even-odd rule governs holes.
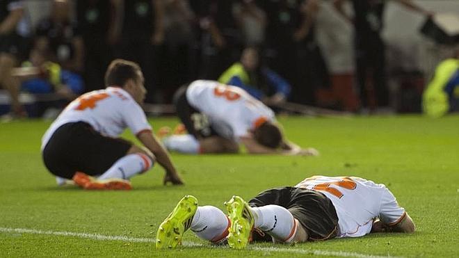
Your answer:
[[[296,233],[296,220],[290,211],[279,205],[252,207],[254,227],[273,236],[276,241],[290,243]]]

